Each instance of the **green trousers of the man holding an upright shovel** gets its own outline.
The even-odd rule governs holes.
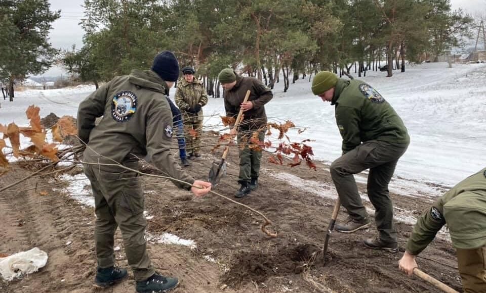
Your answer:
[[[257,131],[257,130],[255,130]],[[253,135],[252,130],[240,130],[237,140],[239,146],[239,176],[238,183],[250,183],[251,179],[257,179],[260,175],[260,161],[262,160],[262,151],[253,150],[250,146],[250,138]],[[258,140],[263,141],[265,130],[258,132]]]

